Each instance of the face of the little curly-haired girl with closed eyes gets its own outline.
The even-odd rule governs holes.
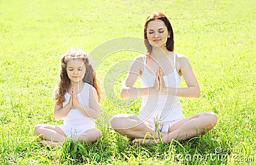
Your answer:
[[[86,68],[82,59],[70,59],[67,62],[68,78],[73,83],[82,83]]]

